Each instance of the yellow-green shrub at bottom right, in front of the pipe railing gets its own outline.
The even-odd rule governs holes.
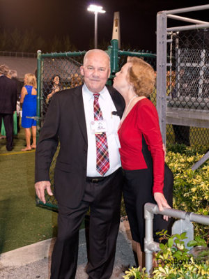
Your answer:
[[[209,276],[209,255],[194,256],[185,248],[184,240],[187,239],[186,233],[174,234],[169,236],[167,231],[159,233],[166,243],[160,243],[160,251],[157,252],[157,267],[151,276],[148,276],[146,269],[132,267],[125,271],[124,279],[208,279]],[[206,247],[206,241],[199,236],[194,241],[189,241],[188,246]]]

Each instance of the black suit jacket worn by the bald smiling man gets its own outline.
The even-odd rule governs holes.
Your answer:
[[[123,97],[107,86],[121,117]],[[49,105],[36,149],[36,182],[49,181],[49,167],[60,141],[54,170],[54,191],[58,202],[75,208],[86,186],[87,131],[82,86],[56,93]]]

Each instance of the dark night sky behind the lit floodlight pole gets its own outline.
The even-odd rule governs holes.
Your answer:
[[[33,29],[47,40],[54,35],[69,35],[77,50],[88,50],[94,38],[94,15],[87,11],[90,3],[103,6],[106,13],[98,15],[98,43],[111,40],[114,12],[121,17],[121,43],[137,50],[151,50],[156,46],[156,15],[171,10],[208,4],[202,0],[0,0],[0,29]],[[184,17],[209,21],[208,10],[183,13]],[[180,25],[187,23],[182,22]],[[169,20],[168,26],[178,22]]]

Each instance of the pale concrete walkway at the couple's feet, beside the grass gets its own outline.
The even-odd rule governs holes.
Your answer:
[[[130,241],[130,229],[126,221],[121,222],[114,273],[111,279],[123,278],[124,268],[135,264]],[[1,279],[49,279],[52,248],[55,239],[47,239],[16,250],[1,254]],[[86,239],[84,229],[79,234],[79,257],[76,279],[87,279],[84,269],[87,262]]]

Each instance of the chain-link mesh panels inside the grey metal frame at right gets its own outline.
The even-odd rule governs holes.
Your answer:
[[[209,29],[169,32],[168,40],[167,111],[203,118],[209,113]],[[208,128],[168,125],[167,142],[208,145]]]

